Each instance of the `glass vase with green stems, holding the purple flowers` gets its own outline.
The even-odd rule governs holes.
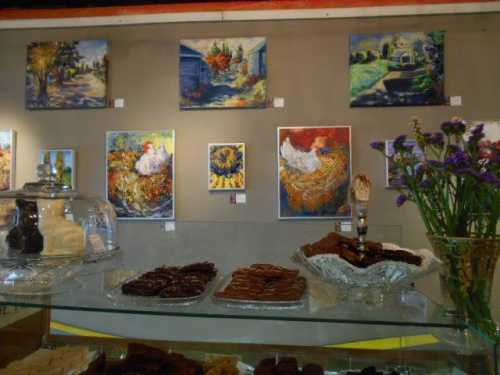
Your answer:
[[[500,237],[427,237],[443,262],[440,279],[447,305],[460,318],[498,340],[491,313],[491,293],[500,256]]]

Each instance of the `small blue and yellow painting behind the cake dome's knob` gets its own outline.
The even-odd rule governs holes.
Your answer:
[[[76,189],[75,150],[41,150],[39,162],[49,162],[56,182]]]

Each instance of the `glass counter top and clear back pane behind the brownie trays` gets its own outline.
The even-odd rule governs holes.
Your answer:
[[[228,307],[214,301],[213,290],[200,302],[188,306],[116,303],[107,296],[118,282],[130,277],[130,270],[142,272],[161,265],[210,261],[216,264],[219,277],[253,263],[299,268],[291,260],[294,250],[320,239],[332,229],[331,222],[122,223],[121,253],[109,260],[85,265],[80,276],[62,286],[64,292],[49,296],[0,295],[0,304],[201,318],[465,328],[463,322],[446,316],[438,304],[411,286],[401,293],[384,295],[379,303],[345,300],[335,288],[304,269],[301,272],[309,282],[307,302],[304,307],[294,309]],[[369,238],[400,243],[401,228],[372,225]]]

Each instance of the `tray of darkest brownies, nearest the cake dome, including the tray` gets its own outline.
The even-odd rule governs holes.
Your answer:
[[[213,263],[164,265],[123,281],[107,297],[122,305],[190,305],[210,292],[216,277]]]

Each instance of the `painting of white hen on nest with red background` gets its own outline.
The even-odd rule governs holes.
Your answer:
[[[351,217],[349,126],[278,128],[280,219]]]

